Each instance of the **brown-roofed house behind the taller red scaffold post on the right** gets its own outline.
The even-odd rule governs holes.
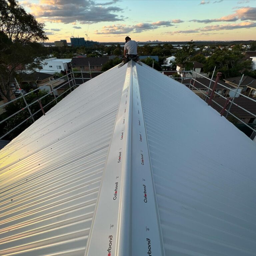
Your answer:
[[[210,89],[213,89],[214,83],[215,83],[215,78],[213,78],[214,81],[210,81],[209,79],[205,78],[205,77],[197,77],[196,79],[192,78],[192,79],[184,79],[182,81],[182,83],[184,85],[186,85],[187,87],[189,87],[189,89],[191,89],[195,94],[197,94],[199,97],[201,98],[205,98],[205,95],[208,92],[208,88],[210,85]],[[225,88],[225,87],[229,87],[229,89]],[[221,94],[225,97],[233,97],[233,95],[235,94],[235,90],[234,91],[230,91],[230,90],[234,90],[234,88],[230,85],[227,85],[225,82],[219,80],[215,89],[215,92],[218,94]],[[209,92],[209,94],[211,93],[211,91]],[[218,94],[214,94],[214,98],[220,98],[220,96]],[[238,95],[236,95],[236,97],[238,97]]]

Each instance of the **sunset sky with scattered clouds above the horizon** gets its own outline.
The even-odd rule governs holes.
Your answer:
[[[49,42],[256,40],[256,0],[20,0]]]

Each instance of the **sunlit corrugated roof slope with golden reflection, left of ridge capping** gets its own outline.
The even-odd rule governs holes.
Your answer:
[[[80,85],[0,151],[0,255],[84,255],[125,73]]]

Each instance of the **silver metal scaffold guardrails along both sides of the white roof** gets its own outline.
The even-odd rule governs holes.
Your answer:
[[[161,71],[161,72],[162,72],[162,71]],[[169,72],[175,72],[175,73],[177,73],[177,71],[169,71]],[[68,91],[71,92],[72,90],[74,90],[74,89],[77,87],[77,85],[80,85],[80,84],[86,82],[87,80],[89,80],[89,79],[91,79],[91,78],[94,78],[96,75],[99,75],[99,73],[103,73],[103,72],[100,72],[100,71],[99,71],[99,72],[95,72],[95,71],[94,71],[94,72],[91,72],[91,71],[72,71],[72,72],[70,72],[70,73],[64,75],[63,77],[60,77],[60,78],[56,79],[56,80],[61,80],[61,79],[64,78],[64,80],[67,81],[67,82],[62,83],[62,84],[61,84],[60,86],[58,86],[58,87],[53,88],[53,86],[52,86],[52,81],[49,81],[49,83],[47,83],[47,84],[45,84],[45,85],[41,86],[40,88],[37,88],[37,89],[35,89],[35,90],[33,90],[33,91],[30,91],[30,92],[28,92],[28,93],[26,93],[26,94],[23,94],[22,91],[20,91],[20,92],[21,92],[21,96],[19,96],[19,97],[17,97],[16,99],[11,100],[11,101],[9,101],[9,102],[3,104],[3,105],[0,105],[0,108],[4,108],[4,107],[8,106],[9,104],[16,102],[16,101],[19,100],[19,99],[23,99],[24,104],[25,104],[25,107],[19,109],[19,110],[16,111],[15,113],[13,113],[13,114],[11,114],[10,116],[8,116],[8,117],[4,118],[3,120],[1,120],[1,121],[0,121],[0,125],[3,125],[3,124],[4,124],[6,121],[8,121],[10,118],[14,117],[15,115],[21,113],[21,112],[24,111],[24,110],[27,110],[27,111],[28,111],[28,117],[25,118],[22,122],[20,122],[18,125],[16,125],[16,126],[13,127],[12,129],[10,129],[10,130],[9,130],[8,132],[6,132],[5,134],[3,134],[3,135],[0,134],[0,139],[3,139],[4,137],[6,137],[8,134],[10,134],[11,132],[13,132],[15,129],[17,129],[18,127],[20,127],[22,124],[24,124],[24,123],[25,123],[26,121],[28,121],[28,120],[32,120],[33,122],[35,122],[35,118],[34,118],[34,117],[35,117],[35,115],[37,115],[40,111],[41,111],[41,114],[44,115],[44,114],[45,114],[45,108],[46,108],[47,106],[49,106],[51,103],[57,103],[57,102],[58,102],[58,99],[61,99],[60,97],[61,97],[61,96],[64,96],[65,93],[67,93]],[[237,87],[237,88],[234,88],[234,89],[232,90],[230,87],[225,86],[225,85],[223,85],[223,84],[220,84],[220,83],[218,83],[218,81],[214,81],[214,80],[213,80],[214,73],[215,73],[215,69],[214,69],[214,71],[213,71],[212,77],[211,77],[211,78],[208,78],[208,77],[205,77],[205,76],[201,75],[200,73],[196,73],[194,70],[193,70],[193,71],[185,71],[185,70],[184,70],[184,71],[181,71],[181,72],[180,72],[180,74],[179,74],[180,77],[175,77],[174,79],[181,79],[181,83],[183,83],[183,80],[184,80],[184,79],[190,78],[190,83],[188,84],[188,85],[189,85],[188,87],[189,87],[190,89],[192,89],[192,90],[197,90],[199,93],[203,94],[203,97],[205,97],[204,100],[205,100],[205,101],[208,101],[208,105],[210,105],[211,102],[213,102],[214,104],[218,105],[218,106],[222,109],[222,111],[221,111],[221,113],[220,113],[221,115],[223,115],[224,112],[226,111],[226,115],[225,115],[226,118],[227,118],[229,115],[231,115],[231,116],[233,116],[235,119],[237,119],[240,123],[244,124],[244,126],[246,126],[248,129],[251,130],[251,133],[252,133],[252,134],[251,134],[250,137],[251,137],[251,139],[253,139],[253,138],[255,137],[255,135],[256,135],[256,123],[255,123],[255,125],[254,125],[254,124],[247,124],[247,123],[245,123],[243,120],[241,120],[239,117],[237,117],[234,113],[231,113],[230,110],[231,110],[232,105],[235,105],[235,106],[237,106],[238,108],[242,109],[243,111],[249,113],[251,116],[253,116],[253,117],[256,118],[256,115],[255,115],[254,113],[250,112],[249,110],[243,108],[242,106],[240,106],[239,104],[236,104],[236,103],[234,102],[234,99],[235,99],[235,97],[236,97],[237,95],[238,95],[239,97],[247,98],[247,99],[251,100],[251,101],[254,102],[254,103],[256,103],[256,98],[255,98],[255,99],[254,99],[254,98],[250,98],[250,97],[248,97],[248,96],[246,96],[246,95],[244,95],[244,94],[242,94],[242,93],[239,92],[239,87],[240,87],[240,85],[241,85],[241,82],[242,82],[242,78],[243,78],[243,77],[241,78],[238,87]],[[181,76],[181,74],[182,74],[182,76]],[[184,74],[186,74],[186,75],[184,75]],[[192,77],[192,75],[194,75],[194,77]],[[200,77],[203,77],[203,78],[208,79],[208,80],[209,80],[209,85],[206,86],[206,85],[204,85],[203,83],[201,83],[201,82],[199,81],[199,79],[196,79],[196,78],[200,78]],[[56,80],[55,80],[55,81],[56,81]],[[217,80],[217,79],[216,79],[216,80]],[[192,81],[193,81],[193,84],[191,84]],[[196,87],[195,87],[195,84],[194,84],[195,81],[198,82],[199,84],[201,84],[203,87],[205,87],[206,92],[205,92],[205,91],[202,91],[202,90],[200,90],[200,89],[198,89],[198,88],[196,88]],[[17,82],[16,82],[16,83],[17,83]],[[233,98],[225,97],[225,96],[223,96],[222,94],[217,93],[217,92],[215,91],[216,86],[215,86],[215,87],[213,86],[213,88],[210,88],[212,83],[214,83],[214,85],[215,85],[215,84],[216,84],[216,85],[218,84],[218,85],[222,86],[224,89],[228,89],[229,91],[232,91],[232,92],[234,93],[234,97],[233,97]],[[66,90],[64,90],[60,95],[57,96],[57,95],[55,94],[55,92],[56,92],[57,90],[61,89],[62,87],[64,87],[65,85],[67,85],[67,84],[69,85],[68,88],[67,88]],[[38,90],[42,90],[44,87],[47,88],[47,86],[48,86],[48,87],[50,86],[50,88],[51,88],[51,90],[48,91],[47,94],[45,94],[45,95],[42,96],[41,98],[38,98],[37,100],[33,101],[32,103],[29,103],[29,104],[27,103],[26,97],[27,97],[29,94],[35,93],[35,92],[38,91]],[[17,87],[20,89],[20,86],[19,86],[18,83],[17,83]],[[45,98],[45,97],[47,97],[48,95],[53,95],[53,99],[52,99],[51,101],[47,102],[47,104],[42,105],[42,99]],[[212,95],[212,99],[210,99],[211,95]],[[214,100],[215,98],[213,98],[213,95],[218,95],[220,98],[225,99],[225,105],[224,105],[224,106],[221,106],[218,102],[216,102],[216,100]],[[32,113],[32,111],[31,111],[31,106],[32,106],[33,104],[38,104],[38,105],[40,106],[40,109],[37,110],[37,111],[35,111],[34,113]],[[255,119],[255,120],[256,120],[256,119]]]

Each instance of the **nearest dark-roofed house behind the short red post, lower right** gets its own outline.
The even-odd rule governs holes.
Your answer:
[[[218,99],[214,99],[214,101],[219,104],[217,105],[216,103],[212,102],[210,105],[216,109],[218,112],[221,112],[221,110],[223,109],[225,103],[226,103],[226,99],[224,98],[218,98]],[[226,109],[229,108],[230,106],[230,102],[229,104],[227,105]],[[252,114],[256,115],[256,102],[248,99],[248,98],[245,98],[245,97],[238,97],[238,98],[235,98],[234,99],[234,102],[233,104],[231,105],[231,108],[230,108],[230,112],[237,116],[239,119],[241,119],[243,122],[245,122],[246,124],[255,124],[256,125],[256,118],[255,116],[253,116],[252,114],[244,111],[243,109],[241,109],[240,107],[248,110],[249,112],[251,112]],[[224,111],[224,116],[226,115],[226,111]],[[241,123],[239,120],[237,120],[238,123]]]

